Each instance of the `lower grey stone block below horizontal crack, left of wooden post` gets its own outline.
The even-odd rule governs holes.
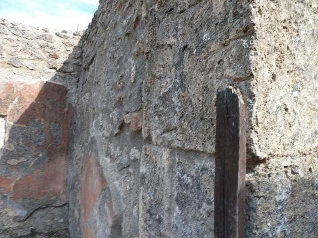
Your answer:
[[[211,155],[145,145],[140,237],[213,237],[214,169]]]

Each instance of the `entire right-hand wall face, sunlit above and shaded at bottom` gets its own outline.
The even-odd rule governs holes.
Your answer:
[[[251,9],[247,237],[317,237],[318,3],[254,1]]]

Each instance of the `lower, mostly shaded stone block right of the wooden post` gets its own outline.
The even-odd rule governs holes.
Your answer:
[[[246,237],[317,237],[318,166],[282,161],[247,174]]]

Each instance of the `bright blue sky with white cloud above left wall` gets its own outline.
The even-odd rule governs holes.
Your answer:
[[[86,29],[99,0],[0,0],[0,17],[58,30]]]

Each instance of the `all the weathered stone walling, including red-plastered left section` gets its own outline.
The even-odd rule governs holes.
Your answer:
[[[317,9],[101,0],[81,39],[1,19],[0,236],[214,237],[216,91],[233,85],[245,237],[317,237]]]

